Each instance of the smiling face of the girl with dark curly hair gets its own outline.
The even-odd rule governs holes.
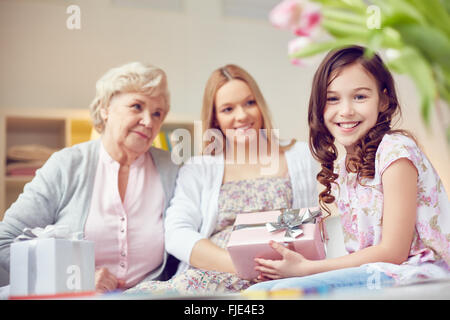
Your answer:
[[[381,111],[375,78],[359,63],[343,67],[327,89],[324,123],[347,153],[375,126]]]

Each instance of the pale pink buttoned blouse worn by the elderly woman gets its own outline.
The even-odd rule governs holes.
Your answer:
[[[124,201],[119,163],[101,144],[85,238],[95,243],[95,266],[106,267],[130,288],[156,269],[164,256],[164,192],[151,155],[130,166]]]

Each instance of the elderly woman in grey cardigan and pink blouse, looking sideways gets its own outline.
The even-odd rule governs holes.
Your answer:
[[[90,108],[101,138],[54,153],[25,186],[0,222],[1,266],[9,270],[25,227],[66,225],[95,243],[98,291],[166,279],[163,221],[178,167],[151,145],[169,104],[154,66],[130,63],[98,80]]]

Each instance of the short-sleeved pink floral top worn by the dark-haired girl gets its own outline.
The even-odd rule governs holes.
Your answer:
[[[450,205],[438,174],[416,143],[401,134],[385,135],[375,158],[375,176],[359,184],[348,173],[345,158],[333,194],[341,215],[345,247],[349,253],[381,241],[383,186],[381,176],[394,161],[409,159],[418,172],[417,218],[409,258],[401,265],[371,263],[399,284],[450,275]],[[399,199],[401,201],[401,199]]]

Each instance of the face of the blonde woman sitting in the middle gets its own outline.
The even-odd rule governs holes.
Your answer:
[[[249,138],[258,136],[263,117],[244,81],[233,79],[217,90],[215,108],[216,121],[229,141],[249,141]]]

